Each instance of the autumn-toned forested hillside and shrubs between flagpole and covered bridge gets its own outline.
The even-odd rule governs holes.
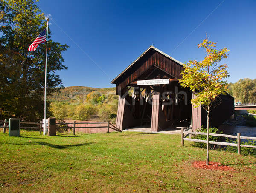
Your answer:
[[[118,106],[116,88],[71,86],[48,98],[50,111],[58,121],[88,120],[95,117],[115,123]]]

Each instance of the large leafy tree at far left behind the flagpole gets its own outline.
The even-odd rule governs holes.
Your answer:
[[[30,121],[43,118],[46,43],[36,51],[29,45],[46,28],[44,13],[33,0],[0,0],[0,119]],[[61,45],[48,36],[47,96],[62,88],[55,71],[67,69]],[[47,112],[49,111],[47,102]]]

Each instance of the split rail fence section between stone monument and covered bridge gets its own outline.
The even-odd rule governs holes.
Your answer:
[[[63,129],[73,129],[73,135],[76,134],[76,128],[108,128],[107,133],[109,133],[109,129],[113,129],[118,132],[122,132],[119,128],[117,128],[115,125],[112,123],[108,122],[63,122],[63,123],[56,123],[57,125],[63,124],[63,125],[73,125],[73,127],[70,126],[57,126],[58,128],[63,128]],[[78,124],[106,124],[105,126],[86,126],[86,127],[77,127],[76,125]]]

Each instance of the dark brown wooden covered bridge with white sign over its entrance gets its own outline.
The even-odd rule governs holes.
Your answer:
[[[178,83],[182,68],[182,62],[150,46],[113,79],[119,95],[117,128],[150,125],[151,131],[163,131],[191,125],[196,130],[205,125],[206,111],[192,108],[195,94]],[[227,94],[221,101],[210,114],[210,126],[221,125],[234,114],[234,98]]]

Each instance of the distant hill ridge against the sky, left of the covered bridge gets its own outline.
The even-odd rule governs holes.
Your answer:
[[[116,88],[92,88],[87,86],[70,86],[61,89],[61,92],[56,92],[48,99],[49,101],[67,101],[71,102],[76,99],[86,99],[87,94],[92,91],[98,91],[101,94],[109,92],[115,93]]]

